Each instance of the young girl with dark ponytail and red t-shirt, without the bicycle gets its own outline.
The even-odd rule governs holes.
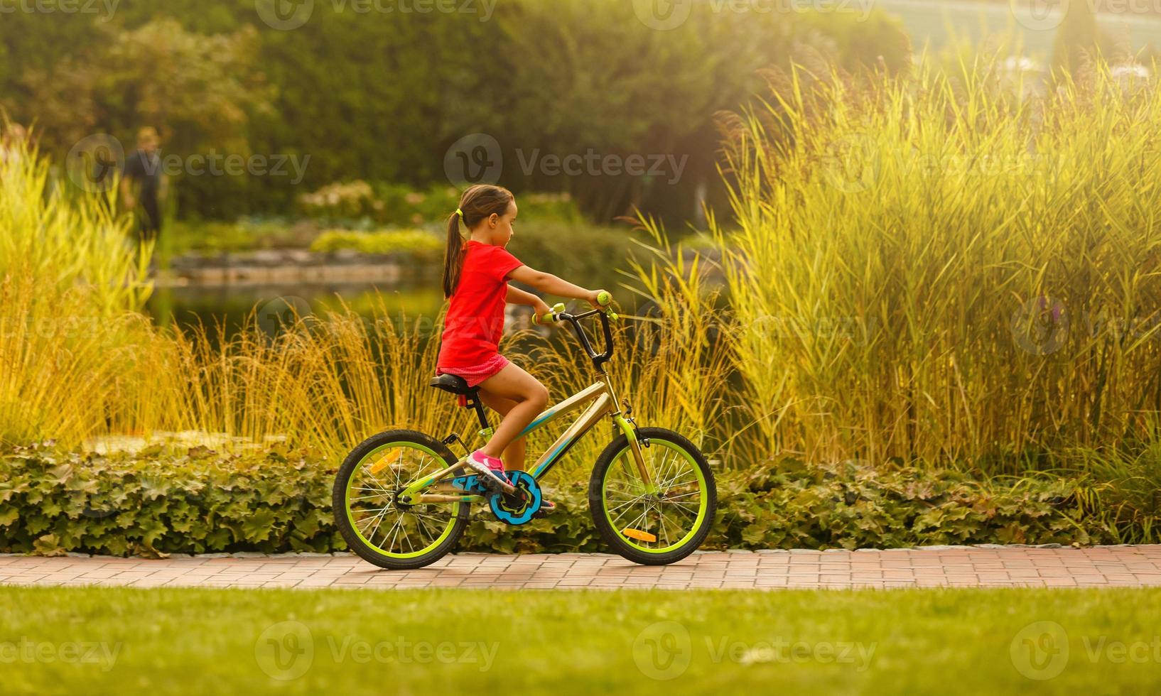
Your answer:
[[[495,483],[506,484],[504,465],[524,469],[524,438],[517,440],[548,405],[548,390],[535,377],[499,354],[504,333],[505,303],[532,306],[536,314],[548,305],[531,292],[510,288],[514,280],[542,292],[587,300],[599,306],[599,290],[533,270],[504,247],[512,239],[517,206],[505,188],[477,184],[460,197],[460,208],[447,220],[447,252],[444,256],[444,296],[450,299],[444,322],[437,374],[457,375],[468,386],[479,386],[479,398],[500,413],[496,433],[483,448],[471,452],[467,465]],[[461,237],[467,230],[468,239]],[[502,459],[503,456],[503,459]],[[543,509],[555,506],[545,501]]]

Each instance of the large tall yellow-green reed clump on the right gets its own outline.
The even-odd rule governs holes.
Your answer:
[[[1037,96],[1000,64],[776,72],[723,119],[735,364],[771,456],[1004,473],[1156,438],[1161,92],[1140,74]]]

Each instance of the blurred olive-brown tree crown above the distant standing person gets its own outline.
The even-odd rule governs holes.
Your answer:
[[[128,147],[138,128],[151,125],[170,152],[248,152],[250,116],[267,109],[271,96],[255,67],[252,27],[207,36],[163,19],[132,30],[93,30],[104,39],[19,78],[27,99],[9,108],[17,119],[35,119],[48,150],[67,152],[98,130]]]

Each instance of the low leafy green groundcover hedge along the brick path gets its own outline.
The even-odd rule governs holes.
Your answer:
[[[0,552],[159,554],[339,551],[332,524],[336,462],[272,448],[80,455],[42,447],[0,455]],[[1113,530],[1075,483],[981,484],[962,474],[860,463],[784,461],[720,472],[706,548],[899,548],[924,544],[1141,541]],[[460,550],[601,551],[587,481],[549,481],[558,512],[510,528],[476,509]]]

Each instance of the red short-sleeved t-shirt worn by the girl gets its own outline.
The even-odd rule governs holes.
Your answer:
[[[468,240],[435,367],[474,368],[495,356],[504,335],[507,275],[524,263],[504,247]]]

